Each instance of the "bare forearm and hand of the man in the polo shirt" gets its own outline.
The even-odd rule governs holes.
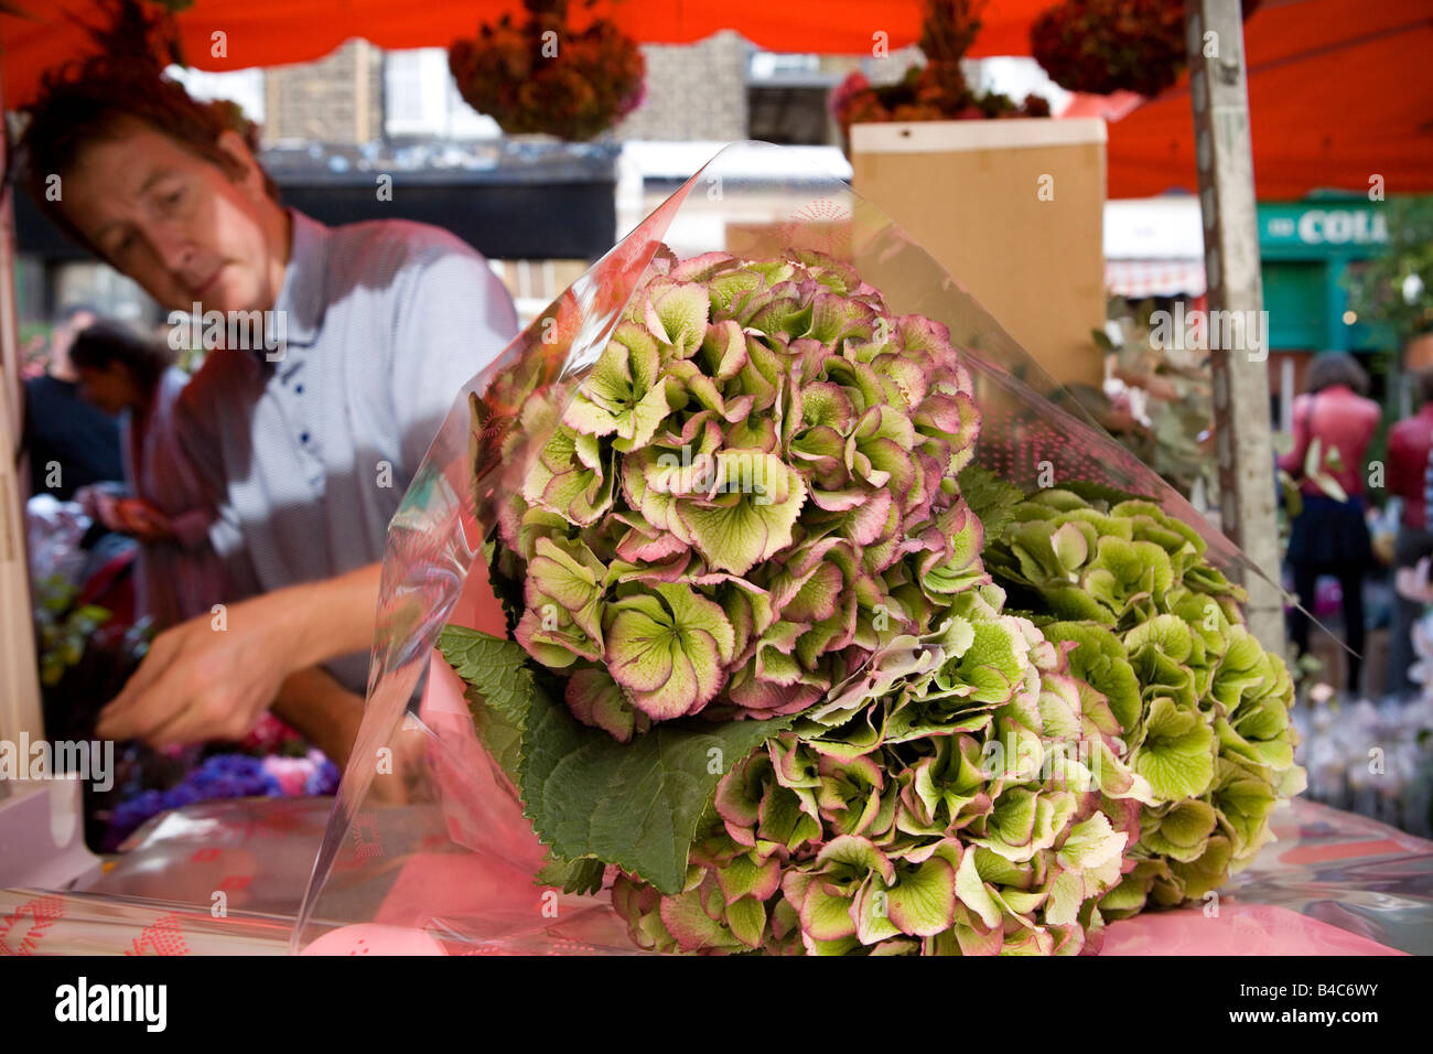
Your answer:
[[[244,739],[289,674],[373,645],[380,565],[229,605],[155,638],[125,690],[100,711],[102,739],[160,747]]]

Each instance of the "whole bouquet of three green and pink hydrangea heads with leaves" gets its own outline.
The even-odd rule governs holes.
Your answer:
[[[469,393],[454,515],[507,632],[440,647],[536,882],[645,949],[883,955],[1093,951],[1217,888],[1300,780],[1228,543],[864,202],[850,245],[676,252],[682,199]]]

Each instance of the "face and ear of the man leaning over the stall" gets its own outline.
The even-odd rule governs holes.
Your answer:
[[[166,310],[274,307],[288,255],[287,218],[234,133],[219,141],[248,165],[218,165],[139,122],[85,148],[63,174],[62,206],[109,262]]]

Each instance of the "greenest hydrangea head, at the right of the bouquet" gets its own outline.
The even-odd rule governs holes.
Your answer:
[[[1046,637],[1078,644],[1076,673],[1105,693],[1125,730],[1122,759],[1152,792],[1126,815],[1136,866],[1106,915],[1222,885],[1273,837],[1270,813],[1304,782],[1293,681],[1245,625],[1244,591],[1159,506],[1058,488],[1017,505],[986,559],[1020,605],[1050,612]]]

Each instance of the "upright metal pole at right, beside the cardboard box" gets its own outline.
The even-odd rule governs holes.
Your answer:
[[[1185,0],[1224,532],[1280,581],[1268,419],[1268,326],[1260,280],[1254,151],[1240,0]],[[1244,575],[1250,630],[1284,654],[1281,591]]]

